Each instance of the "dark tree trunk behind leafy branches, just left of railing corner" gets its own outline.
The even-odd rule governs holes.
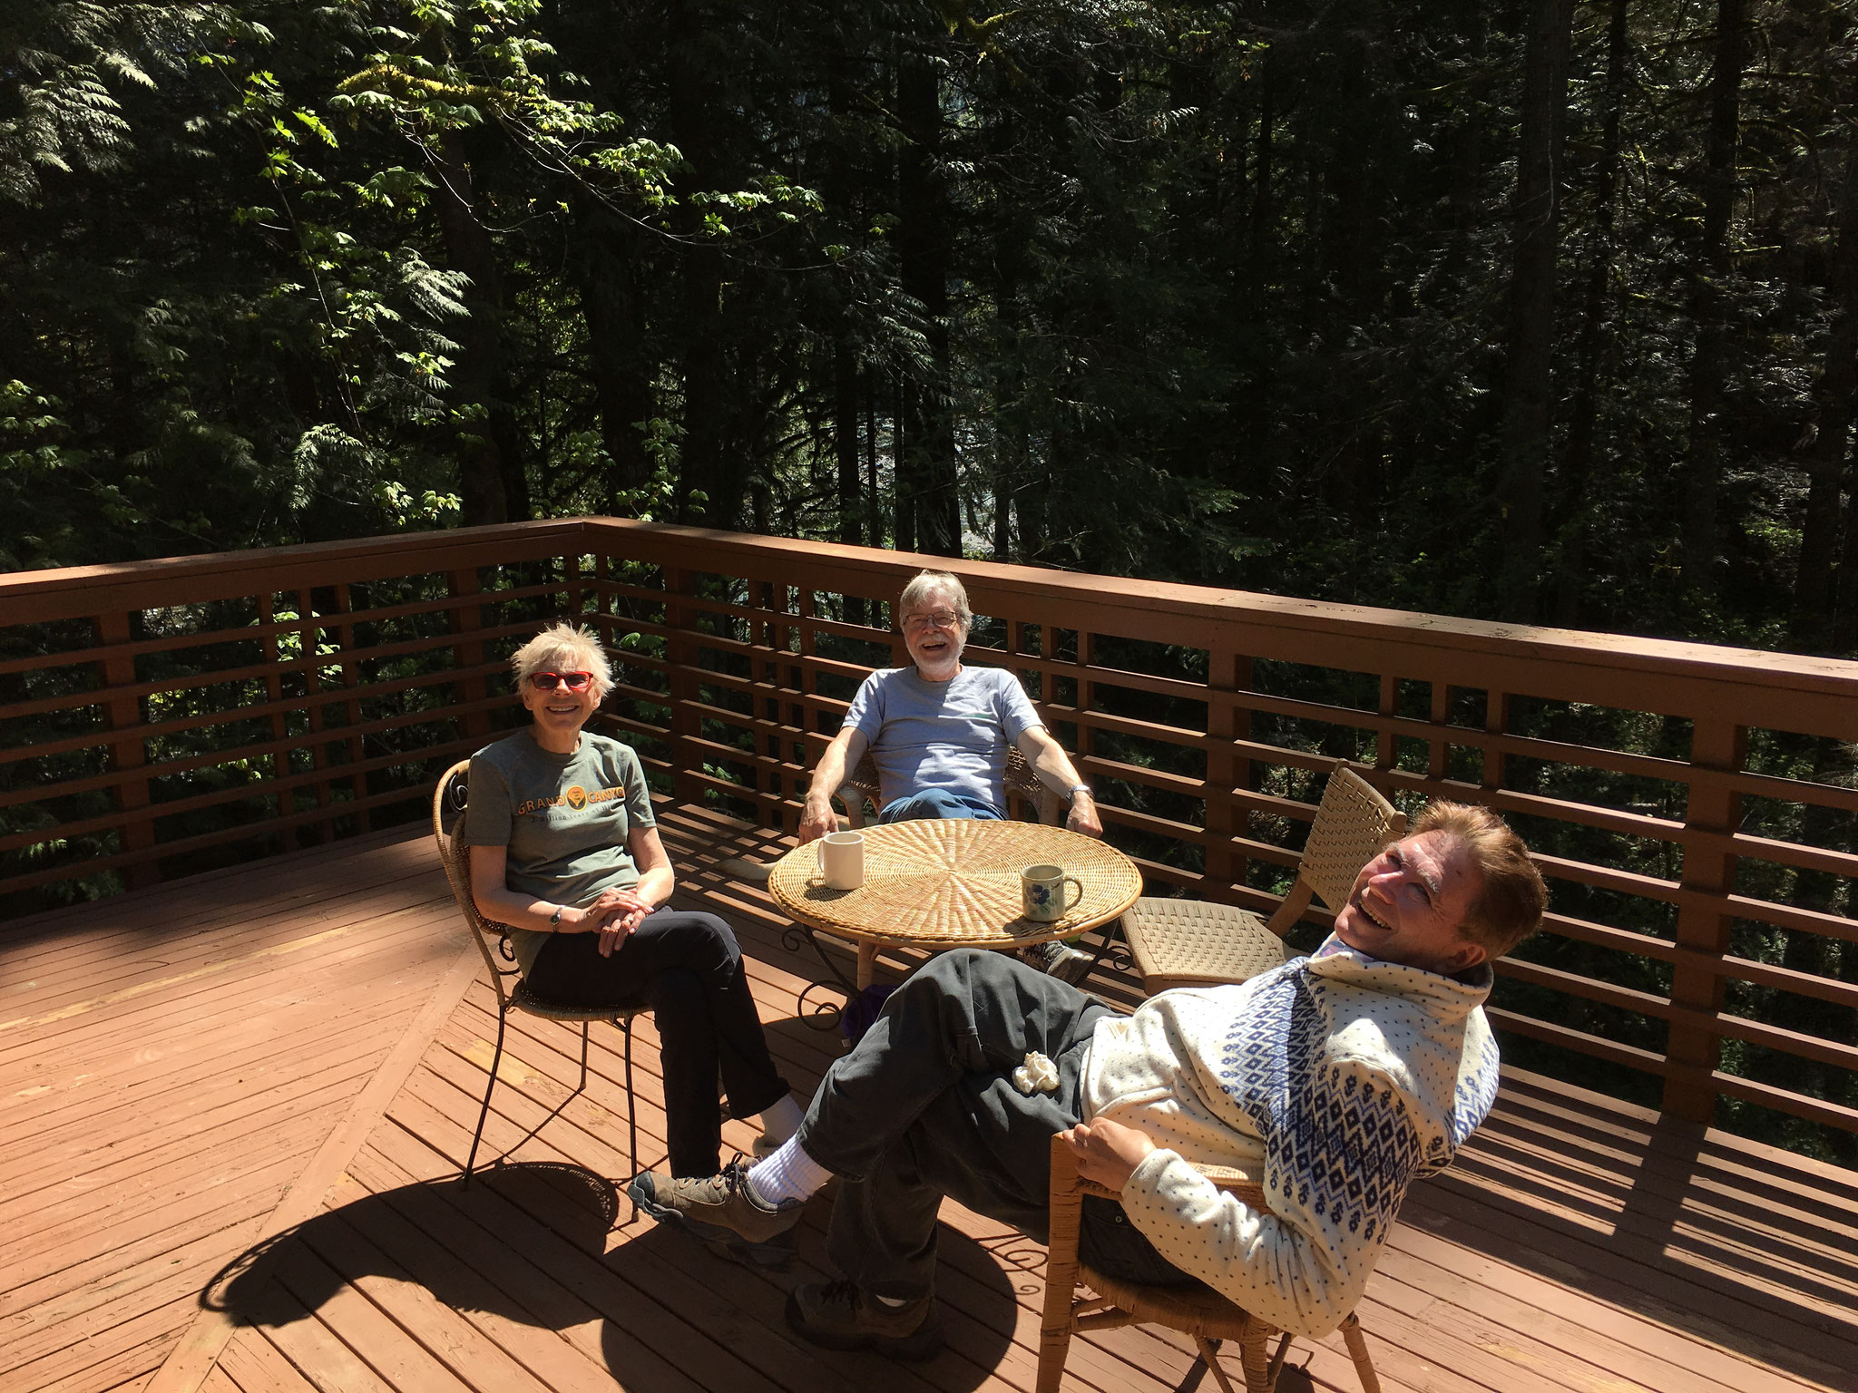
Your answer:
[[[504,273],[496,243],[472,206],[470,163],[459,132],[448,130],[427,147],[438,188],[433,208],[446,240],[451,269],[470,277],[468,316],[455,331],[459,357],[451,366],[451,403],[466,420],[455,427],[463,522],[511,522],[530,516],[522,470],[520,431],[504,397]]]

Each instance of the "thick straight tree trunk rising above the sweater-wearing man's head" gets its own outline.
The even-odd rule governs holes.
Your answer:
[[[1498,509],[1498,607],[1533,620],[1542,568],[1542,474],[1555,364],[1555,253],[1561,240],[1561,132],[1568,110],[1574,0],[1537,0],[1524,58],[1522,150],[1511,208],[1509,362]]]

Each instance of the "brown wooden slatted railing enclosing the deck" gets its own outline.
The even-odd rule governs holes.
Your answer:
[[[1150,893],[1273,906],[1338,756],[1408,806],[1486,802],[1555,892],[1501,966],[1512,1042],[1683,1118],[1858,1131],[1858,663],[1832,659],[613,518],[30,572],[0,578],[0,895],[416,817],[520,717],[504,659],[557,615],[606,635],[606,719],[661,791],[792,830],[923,565],[964,578],[970,659],[1022,676]]]

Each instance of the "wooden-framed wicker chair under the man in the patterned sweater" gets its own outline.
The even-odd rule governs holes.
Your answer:
[[[1237,1194],[1245,1204],[1265,1207],[1263,1191],[1239,1172],[1206,1168],[1219,1189]],[[1046,1250],[1046,1302],[1044,1321],[1039,1330],[1039,1384],[1037,1393],[1057,1393],[1065,1378],[1065,1356],[1070,1350],[1070,1337],[1087,1330],[1117,1330],[1132,1324],[1159,1324],[1193,1335],[1193,1343],[1206,1360],[1206,1367],[1219,1384],[1221,1393],[1234,1393],[1232,1380],[1219,1367],[1219,1343],[1234,1339],[1239,1345],[1239,1369],[1245,1374],[1245,1393],[1269,1393],[1276,1386],[1278,1371],[1284,1367],[1284,1354],[1289,1350],[1286,1334],[1276,1347],[1276,1354],[1267,1352],[1267,1343],[1276,1330],[1250,1315],[1241,1306],[1234,1306],[1217,1291],[1204,1283],[1191,1287],[1146,1287],[1137,1282],[1122,1282],[1104,1276],[1078,1261],[1078,1228],[1083,1220],[1083,1196],[1096,1194],[1106,1200],[1120,1198],[1115,1191],[1078,1176],[1076,1153],[1059,1139],[1052,1139],[1052,1246]],[[1094,1296],[1079,1296],[1078,1285],[1089,1287]],[[1349,1313],[1341,1322],[1341,1339],[1354,1360],[1354,1373],[1362,1380],[1366,1393],[1380,1393],[1380,1380],[1375,1376],[1373,1360],[1367,1356],[1367,1341],[1362,1326]]]

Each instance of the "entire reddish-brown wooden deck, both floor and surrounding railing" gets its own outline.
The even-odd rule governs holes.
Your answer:
[[[570,1096],[578,1031],[511,1018],[509,1163],[459,1183],[496,1009],[425,810],[522,719],[511,648],[600,631],[600,728],[806,1088],[827,973],[743,862],[929,561],[570,518],[0,578],[0,1389],[1031,1389],[1044,1254],[998,1224],[944,1209],[949,1347],[901,1367],[784,1326],[825,1202],[788,1274],[632,1220],[611,1027]],[[1808,1159],[1858,1133],[1858,663],[946,565],[964,661],[1026,683],[1148,895],[1271,912],[1338,760],[1531,841],[1496,1114],[1360,1309],[1390,1393],[1858,1389],[1858,1172]],[[1139,994],[1115,958],[1089,986]],[[641,1165],[656,1046],[641,1018]],[[1211,1386],[1146,1328],[1066,1369]],[[1291,1347],[1312,1387],[1356,1387],[1340,1339]]]

